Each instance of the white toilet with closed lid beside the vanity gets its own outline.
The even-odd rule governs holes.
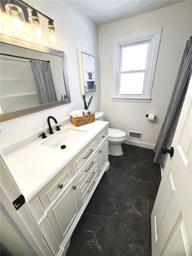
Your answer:
[[[95,113],[95,120],[103,121],[103,112],[96,112]],[[121,144],[125,142],[127,139],[126,133],[118,130],[109,128],[109,155],[113,156],[121,156],[123,155],[123,150]]]

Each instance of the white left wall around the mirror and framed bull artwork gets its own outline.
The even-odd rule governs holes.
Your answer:
[[[71,1],[27,0],[26,2],[54,20],[59,33],[60,50],[66,54],[71,103],[2,122],[1,146],[47,128],[47,117],[50,115],[60,122],[69,117],[71,111],[84,109],[80,85],[79,50],[95,56],[97,91],[88,94],[87,98],[94,95],[91,111],[96,112],[100,108],[98,27],[79,12]]]

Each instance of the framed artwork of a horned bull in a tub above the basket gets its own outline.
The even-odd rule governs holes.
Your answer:
[[[96,92],[95,57],[79,51],[82,94]]]

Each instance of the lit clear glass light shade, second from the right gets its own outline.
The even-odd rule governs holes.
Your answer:
[[[45,41],[45,37],[44,37],[44,29],[43,29],[42,20],[39,17],[31,16],[31,17],[29,17],[29,23],[33,30],[33,35],[34,35],[33,41],[36,43],[40,43],[40,44],[45,43],[46,41]]]

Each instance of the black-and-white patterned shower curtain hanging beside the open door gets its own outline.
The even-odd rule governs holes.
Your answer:
[[[167,113],[161,127],[154,153],[154,163],[163,165],[166,155],[163,155],[161,150],[163,147],[170,147],[172,142],[189,81],[192,74],[192,37],[187,41],[175,86],[171,95]]]

